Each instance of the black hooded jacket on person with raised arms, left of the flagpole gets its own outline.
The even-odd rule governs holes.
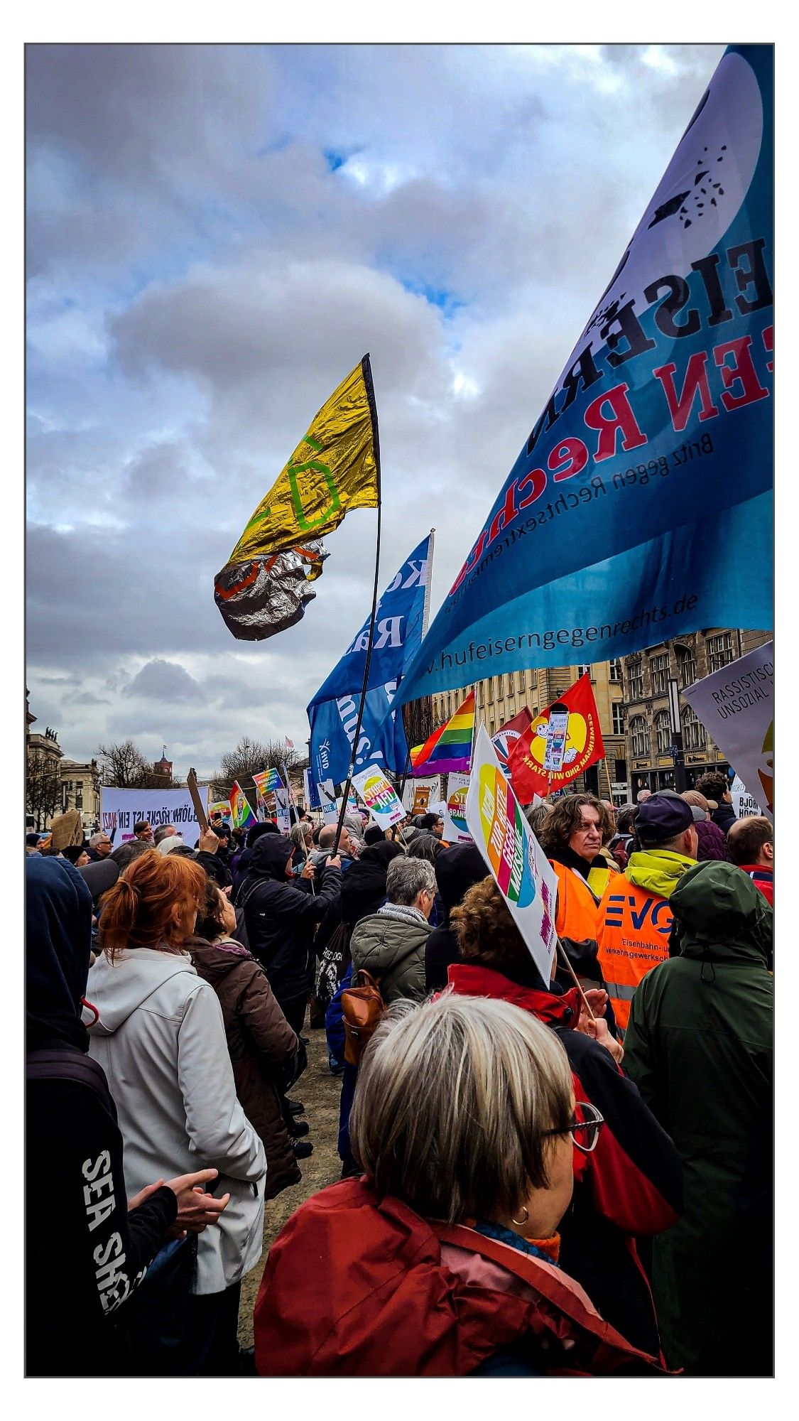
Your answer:
[[[236,891],[245,909],[250,952],[263,966],[277,1000],[293,1002],[313,992],[313,939],[331,904],[341,894],[341,870],[321,868],[316,892],[286,878],[293,843],[283,834],[264,834],[253,847],[247,877]],[[300,880],[294,880],[299,882]]]

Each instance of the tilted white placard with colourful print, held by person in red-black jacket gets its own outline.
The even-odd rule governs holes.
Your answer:
[[[557,880],[522,813],[483,725],[472,750],[466,824],[489,865],[545,985],[557,938]]]

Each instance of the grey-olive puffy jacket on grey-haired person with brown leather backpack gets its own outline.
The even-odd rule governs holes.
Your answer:
[[[398,996],[421,1002],[427,996],[425,946],[429,931],[429,922],[418,909],[384,904],[353,929],[353,972],[364,968],[380,978],[380,992],[387,1005]]]

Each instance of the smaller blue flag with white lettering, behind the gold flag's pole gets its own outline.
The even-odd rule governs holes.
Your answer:
[[[368,648],[368,617],[309,705],[310,769],[317,784],[321,780],[345,780],[353,759],[355,770],[372,763],[395,774],[405,769],[408,743],[402,716],[392,713],[391,708],[405,664],[422,638],[431,576],[431,537],[428,534],[414,549],[377,604],[357,752],[354,753],[354,737]]]

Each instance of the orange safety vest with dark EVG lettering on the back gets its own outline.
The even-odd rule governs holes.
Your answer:
[[[623,1033],[638,982],[668,958],[674,914],[668,898],[617,874],[604,890],[599,917],[597,961],[613,1000],[616,1025]]]

